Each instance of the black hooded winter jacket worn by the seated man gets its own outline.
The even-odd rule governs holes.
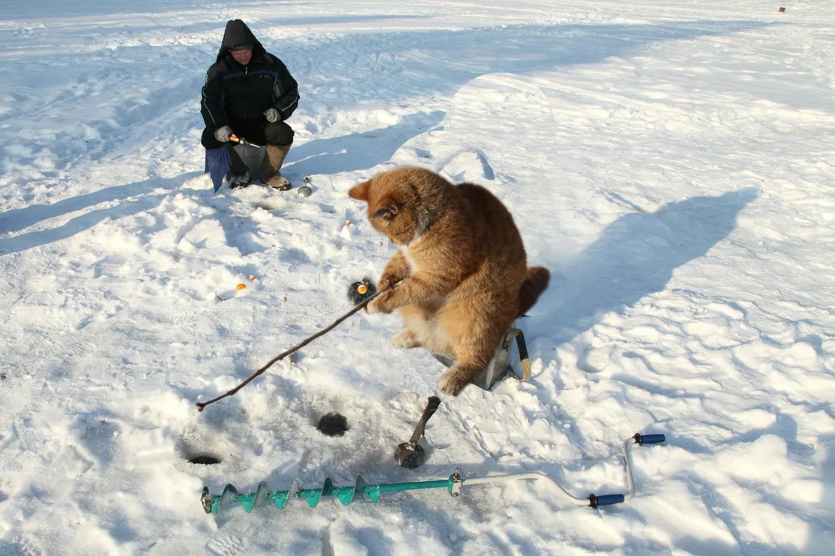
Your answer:
[[[252,48],[245,66],[235,62],[232,48]],[[215,130],[230,122],[264,120],[267,108],[276,108],[282,120],[290,118],[299,102],[299,85],[280,59],[267,53],[246,23],[226,23],[217,60],[206,72],[200,114],[207,128]]]

